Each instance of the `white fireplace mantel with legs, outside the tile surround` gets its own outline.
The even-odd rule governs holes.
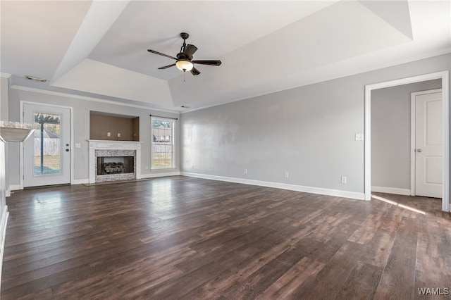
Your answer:
[[[141,144],[142,142],[104,141],[88,139],[89,144],[89,183],[96,182],[96,150],[135,150],[136,151],[136,179],[141,178]]]

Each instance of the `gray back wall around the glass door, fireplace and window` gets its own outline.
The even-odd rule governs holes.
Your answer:
[[[150,114],[162,115],[165,117],[178,118],[178,113],[167,113],[162,111],[154,111],[145,108],[134,108],[128,106],[121,106],[109,103],[103,103],[99,101],[87,101],[84,99],[77,99],[69,96],[56,96],[51,94],[42,94],[39,92],[29,92],[20,89],[9,90],[9,118],[10,120],[18,121],[20,101],[31,101],[42,104],[70,106],[73,108],[74,118],[74,130],[72,135],[74,137],[74,143],[80,143],[81,148],[77,149],[72,147],[74,152],[75,167],[73,170],[74,180],[88,180],[88,143],[89,139],[89,111],[101,111],[105,113],[114,113],[120,115],[133,115],[140,117],[140,142],[143,142],[141,148],[141,173],[142,175],[154,175],[159,173],[178,172],[179,169],[179,157],[180,146],[179,139],[175,139],[175,170],[160,170],[152,171],[144,170],[145,165],[150,166],[151,154],[150,154]],[[180,135],[178,126],[175,128],[176,136]],[[19,145],[9,145],[9,173],[10,173],[10,185],[19,185]]]

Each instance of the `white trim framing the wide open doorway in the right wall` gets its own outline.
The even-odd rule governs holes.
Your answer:
[[[365,85],[365,146],[364,146],[364,194],[365,200],[371,200],[371,91],[385,87],[408,85],[427,80],[442,80],[442,114],[443,114],[443,173],[442,173],[442,210],[450,211],[450,90],[449,71],[440,71],[398,80]]]

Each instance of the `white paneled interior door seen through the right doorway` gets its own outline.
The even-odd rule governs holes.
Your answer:
[[[442,197],[442,92],[415,95],[415,194]]]

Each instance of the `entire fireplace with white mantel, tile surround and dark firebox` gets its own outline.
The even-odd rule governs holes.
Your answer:
[[[140,178],[140,142],[89,140],[89,183]]]

